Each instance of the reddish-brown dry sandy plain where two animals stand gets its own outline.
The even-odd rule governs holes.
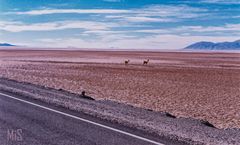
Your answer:
[[[240,128],[239,53],[1,50],[0,77]]]

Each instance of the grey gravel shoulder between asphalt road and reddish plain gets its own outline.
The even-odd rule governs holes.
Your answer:
[[[165,112],[155,112],[109,100],[90,100],[65,90],[6,78],[0,78],[0,91],[37,99],[189,144],[240,144],[240,129],[218,129],[202,120],[175,118]]]

